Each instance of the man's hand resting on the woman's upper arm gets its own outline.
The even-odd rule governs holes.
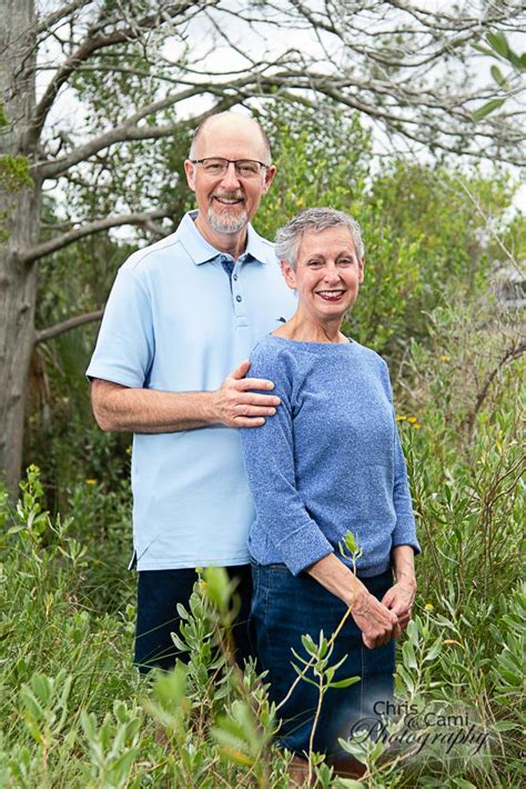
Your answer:
[[[229,428],[259,428],[265,423],[265,417],[274,416],[280,405],[274,394],[251,391],[274,389],[274,384],[264,378],[245,378],[249,369],[250,361],[245,359],[213,393],[218,421]]]

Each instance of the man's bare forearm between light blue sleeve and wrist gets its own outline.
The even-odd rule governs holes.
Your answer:
[[[218,423],[214,394],[129,389],[109,381],[92,384],[93,411],[102,430],[138,433],[176,432]]]

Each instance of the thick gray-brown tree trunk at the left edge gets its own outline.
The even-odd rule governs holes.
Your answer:
[[[28,168],[37,141],[29,127],[34,109],[34,3],[0,0],[0,473],[14,496],[23,446],[26,382],[34,342],[37,269],[19,251],[38,240],[40,184]]]

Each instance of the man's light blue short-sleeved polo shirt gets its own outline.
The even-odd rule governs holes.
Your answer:
[[[139,250],[119,270],[90,378],[213,391],[294,312],[273,244],[249,226],[246,251],[230,279],[223,263],[232,257],[204,240],[195,216],[185,214],[172,236]],[[135,433],[132,489],[139,570],[249,561],[254,510],[236,429]]]

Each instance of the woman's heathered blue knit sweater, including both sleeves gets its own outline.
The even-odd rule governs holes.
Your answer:
[[[263,427],[240,430],[256,510],[253,559],[297,575],[333,551],[340,557],[347,531],[363,549],[363,577],[384,572],[395,546],[419,552],[383,359],[354,341],[269,334],[249,374],[274,381],[282,401]]]

